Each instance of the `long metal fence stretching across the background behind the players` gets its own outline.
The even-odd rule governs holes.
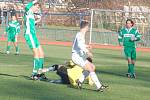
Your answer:
[[[17,12],[21,24],[20,37],[23,39],[23,12]],[[136,22],[136,27],[143,34],[138,42],[139,47],[150,47],[150,13],[124,12],[120,10],[95,9],[85,13],[42,13],[42,20],[37,25],[37,35],[40,41],[72,42],[81,20],[91,22],[91,28],[86,41],[92,44],[118,45],[118,30],[125,24],[127,18]],[[1,16],[0,36],[10,20],[10,14]],[[6,36],[5,36],[6,37]]]

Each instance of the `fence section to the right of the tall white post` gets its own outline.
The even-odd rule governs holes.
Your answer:
[[[118,45],[118,30],[125,25],[127,18],[133,19],[142,40],[138,47],[150,47],[150,13],[125,12],[122,10],[91,10],[90,43]]]

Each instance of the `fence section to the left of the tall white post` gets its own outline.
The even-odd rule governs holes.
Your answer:
[[[24,33],[23,15],[23,11],[17,11],[18,20],[21,24],[20,39],[23,39]],[[72,42],[77,31],[79,31],[81,20],[90,17],[89,13],[42,13],[41,15],[41,21],[37,24],[36,31],[39,40],[46,42]],[[7,15],[3,16],[3,22],[1,23],[1,37],[5,33],[5,28],[10,20],[10,12],[7,11]]]

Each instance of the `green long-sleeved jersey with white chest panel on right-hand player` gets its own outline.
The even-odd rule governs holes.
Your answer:
[[[132,41],[131,38],[136,38],[135,41],[141,39],[141,34],[138,32],[137,28],[131,27],[130,29],[123,27],[119,31],[118,41],[123,42],[125,47],[136,47],[135,41]]]

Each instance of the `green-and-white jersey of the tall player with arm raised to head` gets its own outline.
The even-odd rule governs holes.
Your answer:
[[[30,8],[34,5],[33,2],[30,2],[25,7],[24,23],[25,23],[25,33],[24,34],[36,34],[35,29],[35,18],[34,13]]]

